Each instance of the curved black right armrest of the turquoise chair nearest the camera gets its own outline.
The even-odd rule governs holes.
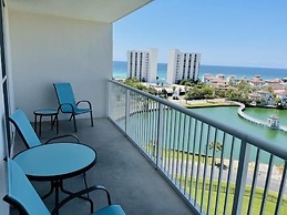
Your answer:
[[[57,207],[53,208],[53,211],[51,212],[51,214],[57,214],[57,212],[59,212],[59,209],[64,206],[66,203],[69,203],[70,201],[74,199],[75,197],[79,197],[79,196],[83,196],[84,194],[88,194],[88,193],[91,193],[93,191],[96,191],[96,190],[101,190],[101,191],[104,191],[105,194],[106,194],[106,199],[107,199],[107,204],[111,205],[112,202],[111,202],[111,195],[109,193],[109,191],[104,187],[104,186],[101,186],[101,185],[94,185],[94,186],[91,186],[91,187],[88,187],[85,190],[82,190],[82,191],[79,191],[76,193],[73,193],[72,195],[65,197],[64,199],[62,199],[59,205]],[[93,202],[91,199],[91,213],[93,213]]]

